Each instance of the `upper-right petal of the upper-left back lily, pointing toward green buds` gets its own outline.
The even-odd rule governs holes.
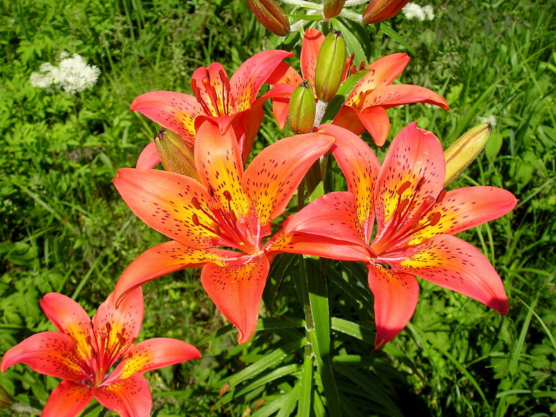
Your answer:
[[[245,60],[238,70],[231,76],[231,94],[235,99],[236,112],[251,107],[263,83],[274,72],[281,61],[293,53],[272,49],[255,54]]]

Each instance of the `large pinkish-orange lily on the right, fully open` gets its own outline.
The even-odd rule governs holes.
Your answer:
[[[335,245],[318,247],[319,256],[332,259],[345,259],[345,248],[354,243],[366,248],[367,254],[358,260],[367,263],[368,284],[375,295],[375,348],[398,334],[414,313],[415,275],[503,315],[508,312],[496,270],[475,247],[451,235],[511,211],[517,202],[512,193],[489,186],[443,190],[441,143],[432,133],[417,129],[416,122],[394,138],[382,167],[354,133],[332,125],[318,129],[336,137],[332,152],[350,192],[316,199],[289,218],[282,233],[297,240],[336,239]],[[369,245],[375,216],[377,231]]]

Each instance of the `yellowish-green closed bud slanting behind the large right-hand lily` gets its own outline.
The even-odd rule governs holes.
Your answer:
[[[489,139],[492,128],[489,123],[482,123],[466,131],[461,138],[444,152],[446,160],[446,177],[444,186],[450,185],[461,172],[464,172],[475,158],[481,153],[486,140]]]

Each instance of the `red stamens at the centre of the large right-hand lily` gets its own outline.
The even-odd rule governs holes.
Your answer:
[[[420,177],[410,198],[402,198],[402,195],[407,188],[411,187],[411,181],[405,181],[398,188],[396,192],[398,202],[394,213],[388,220],[382,235],[375,237],[375,242],[371,245],[377,254],[384,254],[407,243],[413,234],[425,227],[432,227],[440,221],[442,215],[439,211],[434,211],[434,206],[443,200],[446,190],[441,190],[436,198],[427,195],[422,200],[416,201],[416,195],[423,187],[423,183],[425,177]]]

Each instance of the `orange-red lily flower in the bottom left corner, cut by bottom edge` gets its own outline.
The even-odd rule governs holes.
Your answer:
[[[148,417],[152,397],[142,374],[201,357],[192,345],[172,338],[133,345],[143,317],[140,288],[118,309],[109,295],[92,320],[74,300],[58,293],[44,295],[40,306],[58,332],[26,338],[4,354],[0,368],[4,372],[25,363],[63,379],[50,394],[43,417],[74,417],[92,398],[122,417]]]

